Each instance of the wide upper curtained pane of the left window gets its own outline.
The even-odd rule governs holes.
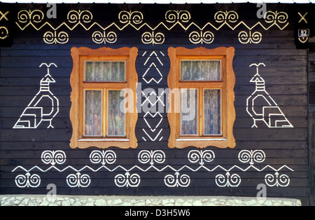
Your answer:
[[[85,62],[85,81],[125,81],[125,62]]]

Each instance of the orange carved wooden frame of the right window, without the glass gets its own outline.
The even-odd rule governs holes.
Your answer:
[[[235,55],[235,48],[169,48],[169,59],[171,68],[167,83],[169,86],[169,111],[167,118],[171,134],[169,136],[169,148],[183,149],[188,146],[195,146],[203,149],[207,146],[218,148],[234,148],[235,137],[233,126],[235,123],[235,73],[232,68],[232,61]],[[181,81],[181,60],[221,60],[221,81]],[[198,90],[198,134],[181,135],[180,90],[182,88],[194,88]],[[221,89],[221,135],[202,135],[204,129],[204,89]],[[176,92],[177,90],[177,92]]]

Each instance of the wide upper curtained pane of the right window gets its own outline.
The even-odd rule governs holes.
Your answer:
[[[182,61],[181,80],[183,81],[221,80],[221,61],[220,60]]]

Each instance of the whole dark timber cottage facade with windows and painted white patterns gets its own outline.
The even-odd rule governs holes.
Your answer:
[[[314,4],[262,9],[0,3],[0,193],[314,205]]]

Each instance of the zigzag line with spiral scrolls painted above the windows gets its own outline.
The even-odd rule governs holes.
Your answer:
[[[144,15],[140,11],[120,11],[118,14],[119,23],[116,24],[116,22],[112,22],[107,26],[98,22],[92,22],[93,15],[90,11],[69,11],[67,21],[62,22],[62,24],[57,27],[54,27],[49,22],[43,22],[44,18],[44,13],[38,9],[33,11],[31,11],[31,9],[29,9],[29,11],[22,10],[18,13],[18,21],[15,23],[21,30],[25,30],[27,27],[33,27],[39,31],[44,27],[50,27],[52,32],[45,32],[43,37],[45,43],[49,44],[67,43],[69,41],[69,35],[64,31],[57,32],[58,29],[66,28],[73,31],[76,27],[83,27],[83,29],[89,31],[93,27],[97,27],[101,30],[92,34],[94,43],[116,43],[116,32],[108,32],[108,29],[116,28],[118,31],[123,31],[127,27],[133,27],[137,31],[146,29],[146,32],[141,35],[141,41],[142,43],[153,45],[165,43],[165,33],[157,32],[158,28],[164,28],[170,31],[175,27],[181,27],[185,32],[190,28],[194,29],[193,32],[190,32],[188,39],[191,43],[197,44],[212,43],[214,41],[214,33],[209,31],[209,28],[218,31],[226,26],[232,31],[235,31],[238,27],[244,27],[245,30],[239,32],[237,37],[240,43],[247,44],[260,43],[262,34],[253,30],[256,27],[268,30],[275,26],[283,30],[289,24],[288,14],[278,11],[267,11],[264,22],[259,21],[254,25],[248,25],[244,21],[239,21],[239,15],[236,11],[218,11],[214,15],[216,24],[207,22],[205,25],[197,25],[195,22],[191,22],[189,11],[167,11],[167,13],[165,13],[166,22],[162,21],[155,26],[148,25],[148,23],[144,22]],[[147,31],[148,29],[150,31]],[[195,29],[198,31],[195,31]]]

